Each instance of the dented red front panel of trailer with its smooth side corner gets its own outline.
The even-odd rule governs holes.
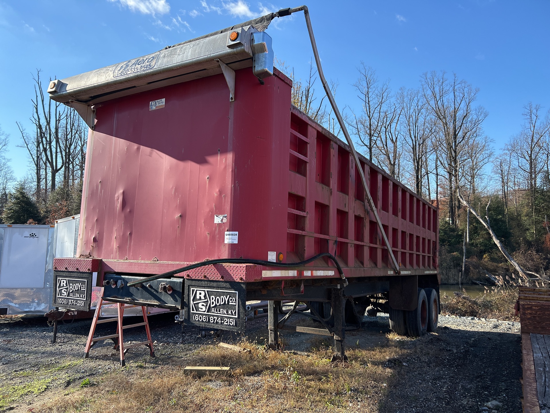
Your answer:
[[[219,74],[97,106],[77,256],[196,262],[285,251],[290,86],[261,85],[248,68],[235,71],[238,99],[227,95]],[[165,107],[150,111],[157,99]]]

